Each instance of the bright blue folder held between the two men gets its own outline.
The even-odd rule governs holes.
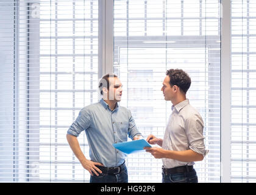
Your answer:
[[[134,141],[125,141],[117,144],[113,144],[116,149],[122,151],[126,154],[131,154],[133,152],[140,152],[143,147],[151,147],[151,145],[146,140],[134,140]]]

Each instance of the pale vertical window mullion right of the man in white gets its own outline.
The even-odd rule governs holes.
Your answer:
[[[230,0],[221,1],[221,182],[230,182]]]

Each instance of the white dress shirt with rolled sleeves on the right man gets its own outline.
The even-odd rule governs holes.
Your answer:
[[[172,113],[163,137],[162,148],[169,151],[186,151],[191,149],[202,155],[208,153],[204,145],[204,121],[188,99],[172,105]],[[171,158],[162,158],[164,168],[194,165],[194,162],[183,162]]]

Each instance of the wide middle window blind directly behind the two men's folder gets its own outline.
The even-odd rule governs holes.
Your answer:
[[[187,98],[204,119],[205,146],[196,162],[199,182],[220,182],[221,1],[114,0],[114,72],[123,83],[121,105],[138,129],[163,138],[171,102],[162,96],[165,72],[191,76]],[[127,157],[129,182],[162,182],[162,160],[140,153]]]

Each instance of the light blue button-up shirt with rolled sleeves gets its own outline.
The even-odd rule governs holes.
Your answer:
[[[82,108],[68,134],[77,137],[83,130],[87,135],[91,160],[106,167],[119,166],[126,158],[126,154],[116,150],[113,143],[127,141],[127,135],[132,140],[135,135],[141,135],[130,110],[116,104],[112,111],[103,99]]]

